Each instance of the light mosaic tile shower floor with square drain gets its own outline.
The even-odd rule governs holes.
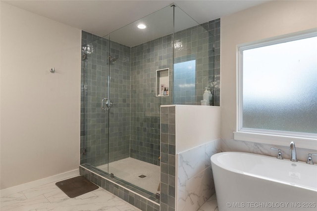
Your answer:
[[[159,192],[159,166],[134,158],[125,158],[109,163],[108,165],[109,173],[113,173],[115,177],[123,179],[151,193]],[[105,164],[97,168],[107,172],[108,165]],[[140,175],[145,175],[145,177],[139,177]]]

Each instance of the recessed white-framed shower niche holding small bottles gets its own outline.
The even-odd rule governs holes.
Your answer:
[[[156,95],[157,97],[169,95],[169,68],[157,70]]]

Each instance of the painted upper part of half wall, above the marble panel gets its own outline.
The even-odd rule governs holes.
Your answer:
[[[176,154],[220,138],[219,106],[175,105]]]

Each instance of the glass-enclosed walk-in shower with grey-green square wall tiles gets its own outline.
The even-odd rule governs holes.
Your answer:
[[[137,28],[139,23],[147,28]],[[119,197],[121,188],[154,206],[159,194],[166,197],[160,189],[161,180],[168,179],[160,178],[166,171],[160,168],[166,162],[160,153],[165,147],[160,106],[200,105],[203,88],[214,80],[214,37],[208,27],[171,5],[105,37],[82,32],[82,44],[91,50],[82,48],[82,174],[98,173],[101,177],[87,177]],[[128,201],[135,205],[137,198]]]

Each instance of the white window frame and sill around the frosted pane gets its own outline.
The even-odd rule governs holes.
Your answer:
[[[317,29],[304,32],[293,33],[290,35],[279,36],[271,39],[261,40],[237,45],[237,128],[234,132],[235,140],[251,141],[257,143],[288,146],[291,141],[296,142],[296,146],[317,150],[317,134],[284,132],[276,130],[264,130],[255,128],[242,128],[242,109],[243,109],[243,50],[263,47],[282,42],[295,41],[317,36]]]

